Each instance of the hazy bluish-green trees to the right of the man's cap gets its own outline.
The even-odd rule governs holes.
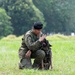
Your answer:
[[[33,0],[47,22],[47,32],[75,32],[75,1],[74,0]]]

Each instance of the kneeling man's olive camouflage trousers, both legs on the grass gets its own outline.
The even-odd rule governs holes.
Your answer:
[[[19,57],[21,57],[20,58],[20,62],[19,62],[19,69],[38,68],[39,64],[41,63],[41,61],[45,57],[45,52],[43,50],[37,50],[37,51],[31,53],[31,57],[30,58],[25,58],[25,55],[24,55],[24,57],[19,55]],[[31,62],[32,58],[34,59],[33,65],[32,65],[32,62]]]

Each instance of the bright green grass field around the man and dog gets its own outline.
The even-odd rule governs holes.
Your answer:
[[[18,69],[18,49],[21,37],[0,40],[0,75],[75,75],[75,37],[47,37],[53,45],[53,70]]]

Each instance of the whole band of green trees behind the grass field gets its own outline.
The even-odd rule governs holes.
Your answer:
[[[0,0],[0,36],[22,35],[36,21],[44,33],[75,32],[75,1]]]

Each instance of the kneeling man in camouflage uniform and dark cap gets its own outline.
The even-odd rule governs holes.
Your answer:
[[[26,32],[22,38],[22,45],[19,49],[19,69],[39,68],[41,61],[45,57],[45,52],[41,50],[42,41],[46,35],[42,35],[43,24],[36,22],[32,30]],[[32,65],[31,58],[34,58]]]

